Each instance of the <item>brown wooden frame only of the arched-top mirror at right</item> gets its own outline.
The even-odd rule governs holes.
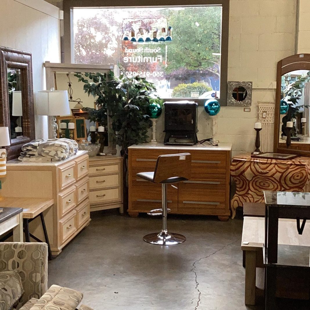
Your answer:
[[[276,104],[274,113],[274,135],[273,152],[282,154],[297,154],[310,157],[310,151],[301,151],[290,148],[279,147],[279,125],[280,125],[280,100],[281,100],[281,77],[282,75],[295,70],[310,71],[310,54],[296,54],[280,60],[277,64],[277,89]]]

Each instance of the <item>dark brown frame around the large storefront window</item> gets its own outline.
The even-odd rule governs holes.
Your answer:
[[[155,7],[151,0],[117,0],[115,6],[106,0],[64,0],[64,40],[62,52],[64,62],[71,63],[73,59],[73,8],[114,8],[114,7]],[[106,6],[104,4],[107,4]],[[167,5],[168,4],[168,5]],[[228,28],[229,28],[229,0],[171,0],[169,3],[157,0],[156,7],[193,7],[193,6],[222,6],[221,33],[221,63],[220,63],[220,98],[221,106],[227,105],[227,71],[228,71]],[[198,98],[162,98],[164,101],[190,100],[203,106],[206,99]]]

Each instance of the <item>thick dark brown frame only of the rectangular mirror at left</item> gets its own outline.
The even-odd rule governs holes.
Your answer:
[[[6,147],[7,159],[10,160],[20,155],[25,143],[35,139],[31,53],[0,47],[0,126],[8,127],[11,135],[8,68],[20,70],[23,102],[23,135],[15,139],[10,136],[11,145]]]

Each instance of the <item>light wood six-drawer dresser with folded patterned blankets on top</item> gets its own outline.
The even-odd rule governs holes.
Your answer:
[[[7,163],[7,176],[2,179],[3,197],[54,199],[54,205],[44,211],[53,255],[58,255],[91,220],[88,170],[87,151],[78,151],[59,162]],[[30,231],[44,240],[41,223],[36,220],[29,225]]]

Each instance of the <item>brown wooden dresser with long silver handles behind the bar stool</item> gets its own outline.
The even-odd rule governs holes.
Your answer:
[[[228,220],[231,144],[171,146],[146,143],[133,145],[128,151],[130,216],[161,208],[161,184],[150,183],[136,174],[154,171],[159,155],[188,152],[192,154],[192,179],[176,184],[177,189],[168,186],[170,213],[217,215],[220,220]]]

